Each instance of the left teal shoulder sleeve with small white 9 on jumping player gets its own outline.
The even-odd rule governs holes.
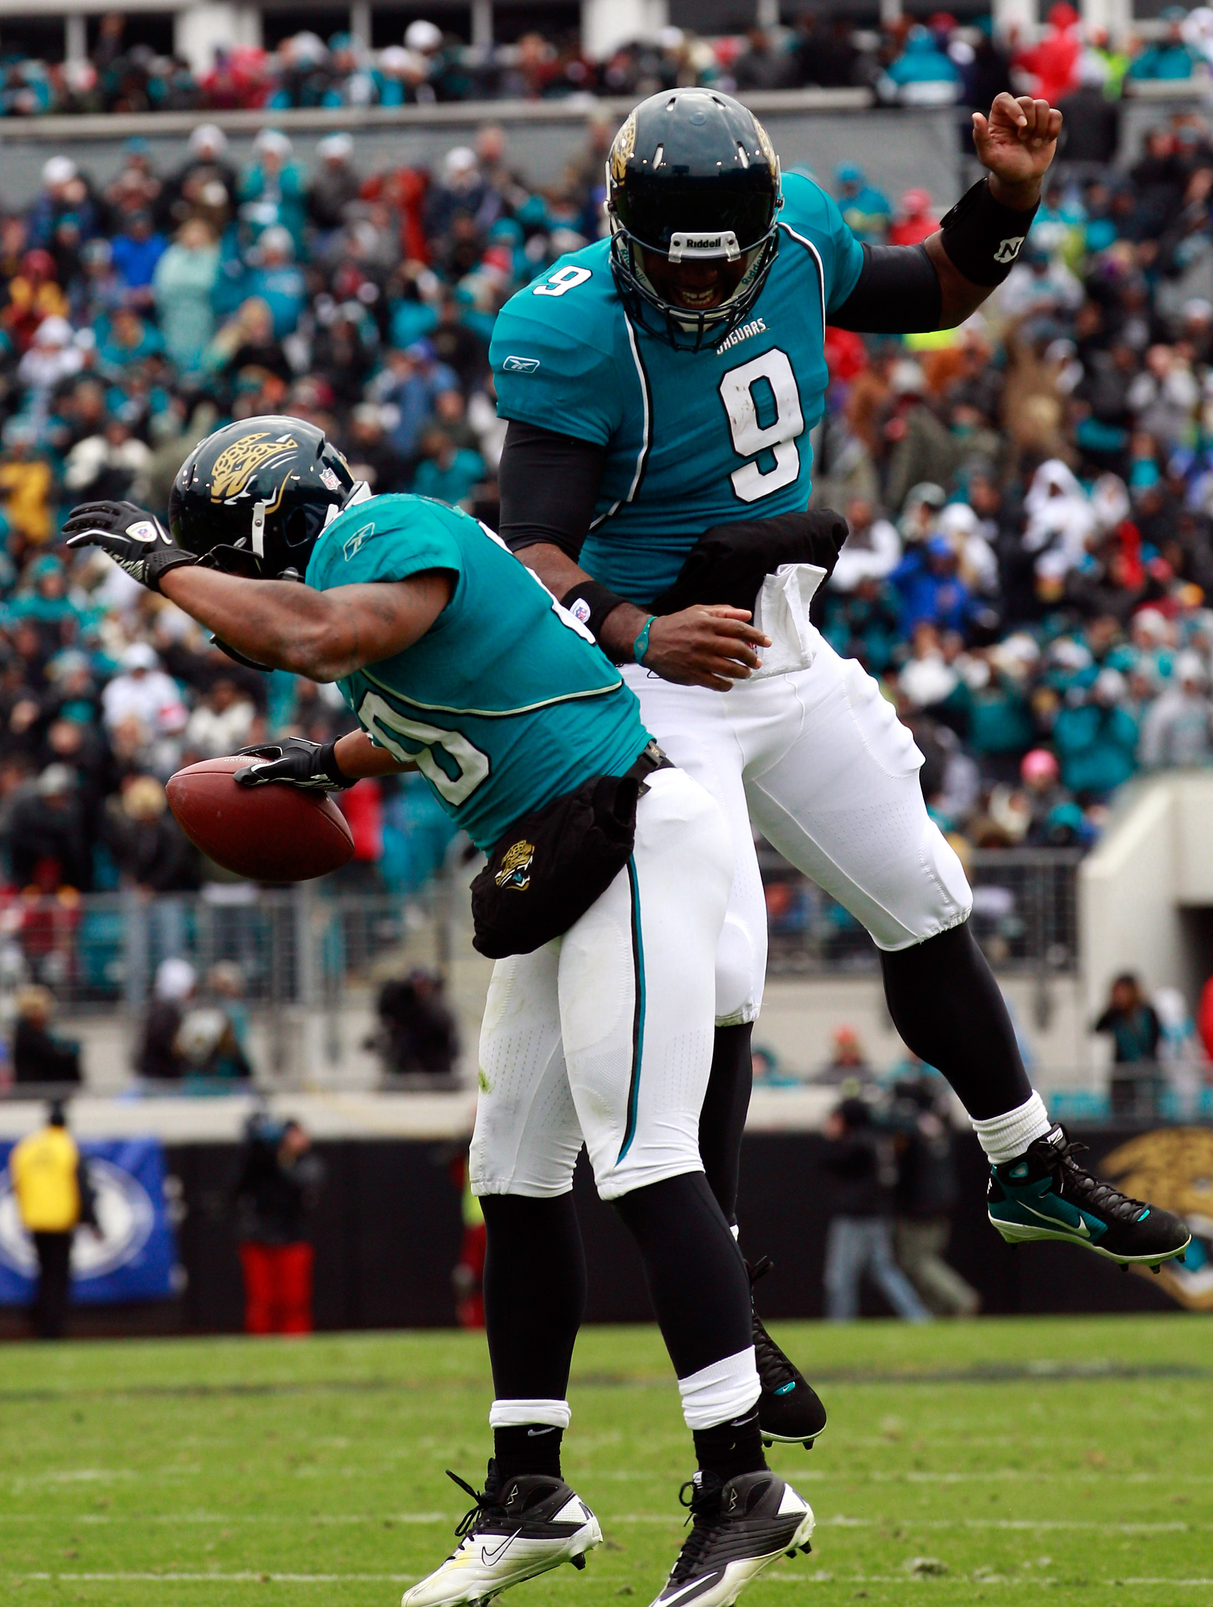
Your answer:
[[[607,442],[622,415],[620,342],[611,243],[599,239],[561,257],[498,313],[488,349],[498,415]]]

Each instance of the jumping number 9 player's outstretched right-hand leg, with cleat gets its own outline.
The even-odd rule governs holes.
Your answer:
[[[778,680],[795,707],[765,739],[747,733],[754,821],[871,932],[893,1025],[953,1085],[990,1159],[994,1226],[1007,1239],[1070,1239],[1117,1260],[1181,1252],[1179,1218],[1097,1183],[1051,1127],[966,926],[972,895],[961,861],[927,815],[922,755],[877,683],[824,641],[808,670]]]

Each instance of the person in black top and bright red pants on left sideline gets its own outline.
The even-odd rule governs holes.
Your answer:
[[[299,1122],[249,1122],[233,1186],[247,1334],[312,1332],[312,1265],[304,1216],[325,1180],[325,1162]]]

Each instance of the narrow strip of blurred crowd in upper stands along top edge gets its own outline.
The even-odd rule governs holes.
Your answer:
[[[408,106],[461,100],[551,100],[630,95],[713,84],[723,90],[871,87],[893,104],[962,103],[988,108],[1014,82],[1056,101],[1080,80],[1115,98],[1128,79],[1179,80],[1208,74],[1213,10],[1171,6],[1162,31],[1120,43],[1084,27],[1070,5],[1054,5],[1041,39],[1011,32],[996,40],[990,19],[961,26],[946,11],[925,24],[898,18],[879,31],[848,18],[805,13],[795,27],[699,37],[664,27],[652,40],[591,59],[575,32],[525,32],[511,43],[472,47],[435,22],[408,24],[400,43],[370,48],[352,34],[325,42],[312,31],[275,50],[219,47],[207,71],[137,42],[137,21],[101,19],[84,59],[3,61],[0,114],[233,111]]]

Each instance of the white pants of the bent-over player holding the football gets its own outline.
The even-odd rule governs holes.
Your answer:
[[[720,808],[681,770],[646,786],[628,866],[564,937],[493,967],[476,1194],[567,1192],[582,1139],[602,1199],[704,1170],[733,847]]]

